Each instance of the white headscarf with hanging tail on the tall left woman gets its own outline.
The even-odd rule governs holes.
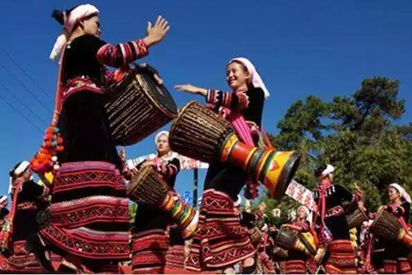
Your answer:
[[[74,8],[74,10],[71,10],[68,17],[65,14],[65,21],[63,24],[64,28],[55,41],[53,49],[50,53],[50,59],[57,60],[58,57],[60,57],[62,49],[67,43],[67,40],[69,39],[71,32],[73,31],[73,28],[74,26],[76,26],[78,21],[88,17],[89,15],[98,15],[98,13],[98,9],[95,6],[91,4],[85,4],[77,6],[76,8]]]

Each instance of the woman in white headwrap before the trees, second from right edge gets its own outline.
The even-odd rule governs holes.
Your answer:
[[[341,185],[334,184],[334,166],[324,164],[315,171],[318,184],[314,188],[314,199],[318,204],[315,215],[319,226],[318,236],[329,251],[325,272],[356,274],[355,251],[350,241],[349,228],[343,210],[343,202],[357,204],[363,193],[357,188],[354,194]]]

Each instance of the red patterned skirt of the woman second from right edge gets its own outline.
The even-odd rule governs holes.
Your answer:
[[[357,274],[354,248],[350,240],[332,240],[329,259],[325,265],[328,274]]]

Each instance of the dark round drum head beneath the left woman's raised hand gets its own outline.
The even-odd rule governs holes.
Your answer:
[[[175,100],[166,89],[164,85],[159,85],[153,74],[145,69],[140,69],[136,67],[136,78],[141,87],[155,100],[159,107],[162,108],[166,113],[177,114],[178,107],[176,106]]]

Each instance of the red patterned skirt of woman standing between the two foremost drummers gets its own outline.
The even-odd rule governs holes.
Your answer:
[[[166,263],[166,233],[162,229],[143,231],[132,238],[133,274],[162,274]]]

